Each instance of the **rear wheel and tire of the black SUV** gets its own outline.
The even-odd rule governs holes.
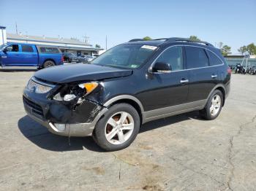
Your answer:
[[[220,90],[214,90],[204,109],[199,111],[201,117],[206,120],[214,120],[222,111],[223,95]]]

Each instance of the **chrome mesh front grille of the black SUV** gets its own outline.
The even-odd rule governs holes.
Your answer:
[[[27,88],[31,91],[34,91],[35,93],[48,93],[51,89],[53,89],[53,85],[39,82],[37,79],[32,77],[31,79],[29,79]]]

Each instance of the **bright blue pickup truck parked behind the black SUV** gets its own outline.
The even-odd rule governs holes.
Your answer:
[[[64,58],[58,47],[8,43],[0,46],[0,68],[43,69],[62,65]]]

